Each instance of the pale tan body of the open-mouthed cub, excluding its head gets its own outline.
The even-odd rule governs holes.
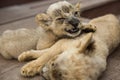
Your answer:
[[[7,30],[0,37],[0,53],[6,59],[17,59],[24,51],[45,49],[54,43],[55,38],[50,34],[42,28]]]

